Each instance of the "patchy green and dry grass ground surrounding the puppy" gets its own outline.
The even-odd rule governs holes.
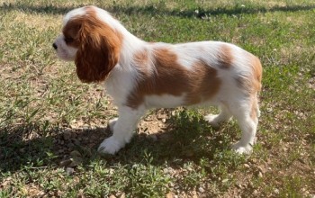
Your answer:
[[[126,148],[97,155],[116,109],[51,48],[62,15],[85,4],[144,40],[223,40],[261,58],[254,153],[230,151],[235,121],[214,130],[205,110],[178,108],[149,112]],[[306,0],[0,0],[0,197],[313,197],[314,17]]]

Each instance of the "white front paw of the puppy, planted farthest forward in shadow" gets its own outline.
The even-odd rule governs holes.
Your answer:
[[[103,140],[103,142],[98,148],[98,152],[113,155],[124,146],[125,146],[124,141],[119,141],[117,139],[114,139],[113,137],[110,137],[108,139]]]

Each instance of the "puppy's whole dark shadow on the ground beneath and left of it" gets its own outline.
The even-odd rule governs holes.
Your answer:
[[[152,165],[183,166],[187,161],[199,163],[202,157],[212,160],[218,152],[229,149],[236,136],[237,128],[233,124],[214,130],[198,113],[190,113],[182,111],[168,118],[163,132],[138,132],[113,156],[97,153],[103,139],[112,135],[107,127],[56,128],[46,131],[44,137],[37,135],[36,131],[42,129],[36,126],[3,129],[0,134],[0,170],[14,172],[25,166],[88,166],[95,159],[106,160],[108,166],[130,165],[144,162],[148,155]]]

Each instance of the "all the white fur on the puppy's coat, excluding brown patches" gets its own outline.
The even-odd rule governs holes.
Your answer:
[[[233,115],[238,120],[242,130],[242,137],[233,148],[238,153],[250,153],[252,151],[258,120],[250,118],[250,98],[247,94],[244,94],[244,90],[238,87],[235,82],[236,76],[253,75],[251,74],[250,54],[247,51],[220,41],[201,41],[175,45],[161,42],[147,43],[139,40],[127,31],[121,23],[112,18],[111,14],[96,7],[94,7],[94,10],[100,20],[109,24],[112,29],[121,32],[123,35],[119,63],[112,69],[112,72],[104,82],[107,93],[112,95],[114,103],[118,106],[119,118],[110,121],[109,125],[113,135],[103,140],[99,147],[100,152],[114,154],[123,148],[130,141],[132,131],[136,129],[139,119],[148,109],[153,107],[175,107],[184,103],[184,95],[163,94],[146,96],[145,102],[137,109],[132,109],[125,105],[130,90],[134,88],[136,80],[141,77],[139,71],[132,66],[134,55],[141,50],[145,50],[150,56],[153,53],[153,49],[161,47],[175,53],[179,64],[187,69],[193,69],[193,62],[202,60],[218,71],[222,85],[220,85],[219,92],[211,98],[211,101],[206,101],[206,103],[219,105],[220,114],[207,115],[205,120],[209,121],[212,126],[217,127],[221,121],[229,121]],[[84,8],[78,8],[69,12],[65,16],[64,25],[67,24],[70,18],[84,14]],[[59,58],[66,60],[75,58],[76,49],[68,47],[62,36],[58,37],[55,44],[58,45]],[[222,69],[218,66],[217,57],[223,45],[227,46],[232,54],[233,66],[230,69]],[[149,63],[147,67],[153,71],[155,69],[153,62]]]

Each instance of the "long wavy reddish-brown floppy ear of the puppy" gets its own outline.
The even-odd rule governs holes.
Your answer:
[[[121,40],[95,14],[89,14],[81,20],[81,29],[78,32],[80,47],[75,59],[76,74],[82,82],[100,82],[117,64]]]

